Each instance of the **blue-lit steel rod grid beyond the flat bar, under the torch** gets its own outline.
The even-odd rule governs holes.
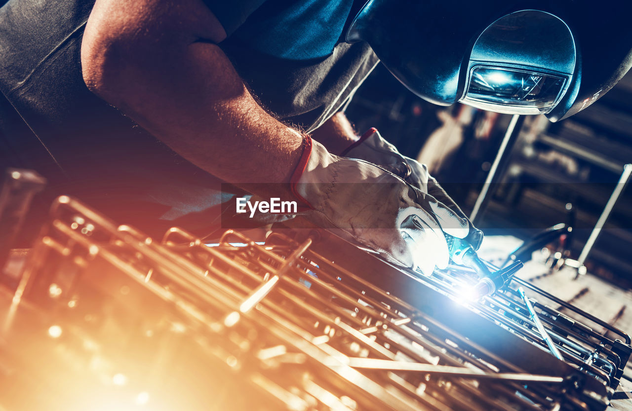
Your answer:
[[[498,270],[493,265],[489,265],[489,268]],[[475,283],[475,274],[463,267],[449,266],[447,270],[435,271],[432,277],[424,277],[423,281],[457,299],[465,299],[467,290]],[[550,352],[530,318],[525,301],[518,292],[519,287],[526,289],[538,318],[564,361],[603,381],[612,389],[616,388],[632,352],[629,336],[616,327],[519,277],[514,277],[494,295],[483,297],[480,301],[468,301],[468,304],[490,321]],[[572,312],[574,318],[562,313],[562,309]],[[599,333],[595,329],[605,332]]]

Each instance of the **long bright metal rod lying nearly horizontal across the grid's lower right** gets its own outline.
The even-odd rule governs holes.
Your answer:
[[[345,365],[351,368],[383,369],[389,371],[416,371],[462,378],[497,379],[503,381],[530,381],[538,383],[561,383],[564,381],[564,378],[555,376],[520,374],[517,372],[482,372],[465,367],[435,366],[434,364],[422,364],[420,362],[394,361],[363,357],[331,357],[331,359],[327,361],[327,365]]]

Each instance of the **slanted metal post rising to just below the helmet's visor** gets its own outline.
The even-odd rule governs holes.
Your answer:
[[[499,180],[499,177],[497,177],[496,174],[499,172],[499,169],[502,170],[502,166],[506,163],[507,158],[511,153],[511,149],[516,143],[516,140],[518,140],[518,134],[520,134],[523,121],[524,117],[520,117],[520,114],[514,114],[513,117],[511,117],[511,121],[509,121],[509,126],[507,126],[505,136],[502,138],[501,146],[498,149],[496,158],[494,158],[494,163],[489,169],[489,174],[487,174],[485,184],[483,184],[483,189],[478,194],[478,198],[476,199],[476,203],[474,204],[474,208],[470,214],[470,221],[474,225],[477,225],[478,220],[480,220],[481,216],[485,212],[485,208],[487,208],[487,204],[489,203],[489,199],[492,194],[492,192],[490,192],[490,186]]]

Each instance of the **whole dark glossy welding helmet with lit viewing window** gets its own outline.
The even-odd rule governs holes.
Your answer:
[[[424,100],[558,121],[632,64],[625,2],[369,0],[347,42],[367,42]]]

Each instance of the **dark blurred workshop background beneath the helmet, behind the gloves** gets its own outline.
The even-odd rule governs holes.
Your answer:
[[[624,165],[632,162],[631,103],[628,73],[569,119],[551,123],[544,116],[522,116],[489,186],[489,202],[478,212],[478,227],[486,235],[526,240],[565,223],[573,232],[553,248],[578,258]],[[358,132],[375,127],[404,155],[427,164],[467,215],[512,118],[462,104],[425,102],[381,65],[357,90],[346,114]],[[625,188],[585,262],[590,273],[623,289],[632,287],[631,197]]]

